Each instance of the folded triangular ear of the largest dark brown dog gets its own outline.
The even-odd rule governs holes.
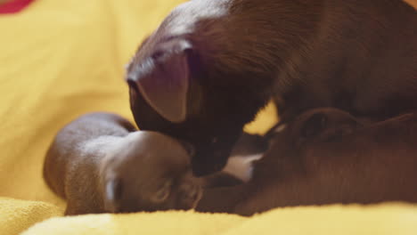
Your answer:
[[[173,123],[183,122],[187,116],[190,53],[191,45],[181,41],[161,46],[127,77],[131,89],[134,87],[152,109]]]

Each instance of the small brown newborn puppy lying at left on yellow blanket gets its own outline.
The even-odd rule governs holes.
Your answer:
[[[110,113],[82,116],[56,135],[44,177],[68,200],[65,215],[190,209],[200,199],[185,143],[135,132]]]

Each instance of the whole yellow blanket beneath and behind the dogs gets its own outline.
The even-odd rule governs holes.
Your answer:
[[[0,15],[0,234],[417,234],[417,208],[404,204],[276,209],[253,218],[193,212],[62,217],[65,202],[41,174],[53,135],[88,111],[132,120],[124,65],[180,2],[37,0],[23,12]],[[265,131],[274,111],[269,106],[247,129]]]

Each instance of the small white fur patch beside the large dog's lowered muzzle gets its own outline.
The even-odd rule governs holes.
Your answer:
[[[243,182],[249,182],[253,173],[253,161],[262,158],[263,154],[251,156],[232,156],[227,161],[223,171],[241,179]]]

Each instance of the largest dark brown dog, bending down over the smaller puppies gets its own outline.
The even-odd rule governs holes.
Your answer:
[[[192,0],[127,69],[137,125],[225,166],[242,126],[274,96],[282,120],[334,107],[385,119],[417,108],[417,12],[402,0]]]

